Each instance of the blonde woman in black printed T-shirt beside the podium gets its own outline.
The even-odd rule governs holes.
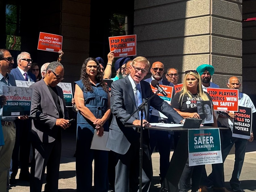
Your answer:
[[[184,118],[200,118],[197,113],[197,101],[211,101],[211,97],[207,92],[203,91],[201,77],[196,70],[185,71],[183,80],[183,88],[177,92],[172,98],[172,107]],[[217,120],[214,115],[214,123],[210,124],[217,127]],[[187,190],[187,181],[192,179],[191,192],[196,192],[200,187],[203,165],[189,166],[187,160],[185,168],[179,180],[179,192]],[[204,187],[202,192],[206,192]]]

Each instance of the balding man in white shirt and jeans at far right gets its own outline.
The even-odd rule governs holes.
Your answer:
[[[228,83],[227,83],[227,87],[230,89],[239,89],[241,87],[240,80],[237,77],[230,77],[228,80]],[[253,102],[249,98],[249,96],[244,93],[239,92],[238,105],[243,106],[243,107],[249,107],[252,109],[252,115],[253,115],[252,125],[254,125],[256,109],[255,109],[255,106],[253,105]],[[230,187],[233,189],[233,191],[241,192],[242,189],[240,188],[241,182],[239,181],[239,177],[240,177],[242,166],[243,166],[243,160],[244,160],[244,156],[245,156],[246,146],[247,146],[248,141],[250,141],[250,142],[253,141],[253,133],[251,133],[250,139],[232,137],[233,119],[235,117],[235,112],[230,112],[230,111],[226,111],[226,112],[230,115],[230,117],[225,117],[222,115],[219,115],[219,117],[218,117],[218,121],[221,123],[222,127],[230,128],[230,130],[222,132],[223,138],[224,138],[223,143],[222,143],[222,160],[224,163],[231,148],[235,144],[234,170],[233,170],[232,177],[231,177],[229,183],[230,183]],[[216,174],[215,174],[214,177],[220,177],[222,179],[222,183],[223,183],[223,186],[215,186],[216,183],[213,183],[214,191],[224,191],[224,192],[227,191],[228,192],[228,190],[226,190],[226,188],[224,187],[224,170],[223,171],[212,170],[212,172],[218,173],[219,175],[216,176]],[[211,179],[211,176],[209,176],[209,178]]]

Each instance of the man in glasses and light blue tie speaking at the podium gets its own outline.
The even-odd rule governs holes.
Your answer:
[[[130,66],[131,74],[116,80],[111,85],[111,111],[113,119],[110,125],[106,147],[117,153],[115,166],[115,192],[139,191],[139,148],[140,133],[132,127],[125,127],[125,119],[141,104],[141,100],[150,98],[154,93],[150,84],[142,81],[150,68],[145,57],[136,57]],[[147,106],[152,106],[174,122],[183,120],[167,102],[154,96]],[[149,127],[149,107],[145,108],[143,126]],[[139,112],[126,123],[141,125]],[[169,146],[168,146],[169,147]],[[142,190],[148,191],[153,176],[148,129],[143,129]]]

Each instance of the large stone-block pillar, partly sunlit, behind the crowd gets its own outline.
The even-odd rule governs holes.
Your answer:
[[[207,63],[226,88],[242,74],[242,0],[135,1],[137,56],[184,72]],[[183,79],[180,74],[179,82]],[[148,74],[149,76],[150,74]]]

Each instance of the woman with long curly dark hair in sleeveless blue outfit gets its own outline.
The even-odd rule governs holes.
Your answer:
[[[76,177],[77,192],[92,189],[94,159],[94,191],[108,191],[108,151],[90,149],[94,131],[99,137],[108,131],[110,116],[109,88],[102,80],[99,62],[85,59],[81,79],[74,82],[77,113]]]

